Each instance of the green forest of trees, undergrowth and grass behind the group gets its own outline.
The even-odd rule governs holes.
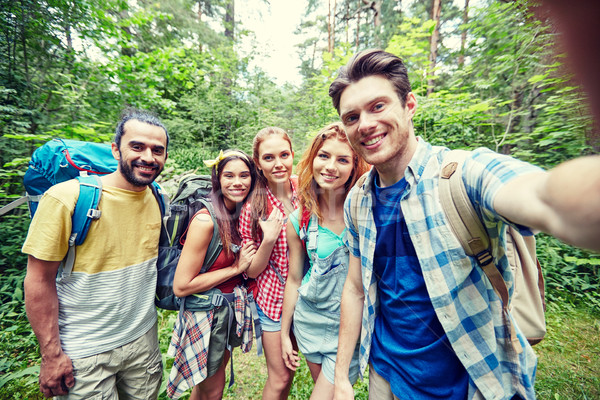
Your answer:
[[[169,190],[186,172],[208,172],[201,160],[220,149],[251,152],[268,125],[290,133],[298,159],[338,119],[327,95],[336,70],[370,47],[405,60],[415,131],[432,144],[485,146],[545,168],[600,150],[559,34],[527,1],[308,0],[298,85],[254,66],[264,50],[246,47],[254,33],[239,22],[249,4],[0,0],[0,205],[24,194],[35,148],[53,137],[109,142],[126,106],[154,111],[169,128]],[[38,399],[39,353],[23,307],[26,206],[0,223],[0,399]],[[538,397],[600,398],[600,258],[538,238],[548,306],[548,335],[535,347]],[[160,312],[163,353],[174,315]],[[260,397],[264,360],[237,354],[226,397]],[[291,398],[311,387],[303,368]],[[366,398],[366,382],[356,393]]]

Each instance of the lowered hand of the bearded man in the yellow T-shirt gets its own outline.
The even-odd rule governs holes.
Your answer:
[[[68,394],[69,389],[75,385],[73,364],[69,356],[62,351],[56,357],[42,355],[39,382],[44,397]]]

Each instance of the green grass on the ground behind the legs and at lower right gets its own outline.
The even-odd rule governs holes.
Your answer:
[[[163,320],[169,323],[174,316]],[[541,400],[591,400],[600,398],[600,316],[589,310],[569,306],[552,307],[546,313],[548,333],[534,347],[538,355],[536,377],[537,398]],[[171,325],[172,326],[172,325]],[[168,346],[167,326],[161,331],[161,345]],[[166,352],[166,348],[163,350]],[[167,365],[170,367],[170,364]],[[229,368],[229,367],[228,367]],[[235,384],[225,390],[226,400],[260,399],[267,379],[264,357],[253,349],[242,354],[234,351]],[[165,379],[169,368],[165,371]],[[296,372],[289,398],[305,400],[310,397],[312,379],[306,363]],[[368,380],[354,385],[355,398],[368,398]],[[184,395],[181,399],[185,400]],[[161,400],[167,397],[163,394]]]

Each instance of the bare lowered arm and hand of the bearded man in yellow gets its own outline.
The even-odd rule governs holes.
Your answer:
[[[25,310],[40,344],[40,390],[45,397],[66,395],[75,384],[73,365],[61,347],[58,332],[56,273],[60,261],[27,260]]]

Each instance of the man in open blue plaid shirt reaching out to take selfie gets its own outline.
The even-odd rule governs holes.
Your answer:
[[[415,135],[417,100],[402,61],[358,53],[329,94],[350,144],[374,166],[345,204],[351,257],[335,398],[353,398],[348,367],[359,339],[370,399],[535,398],[535,354],[518,327],[521,346],[510,341],[500,299],[444,215],[438,178],[449,150]],[[462,178],[509,287],[507,224],[600,250],[600,157],[545,172],[477,149]]]

